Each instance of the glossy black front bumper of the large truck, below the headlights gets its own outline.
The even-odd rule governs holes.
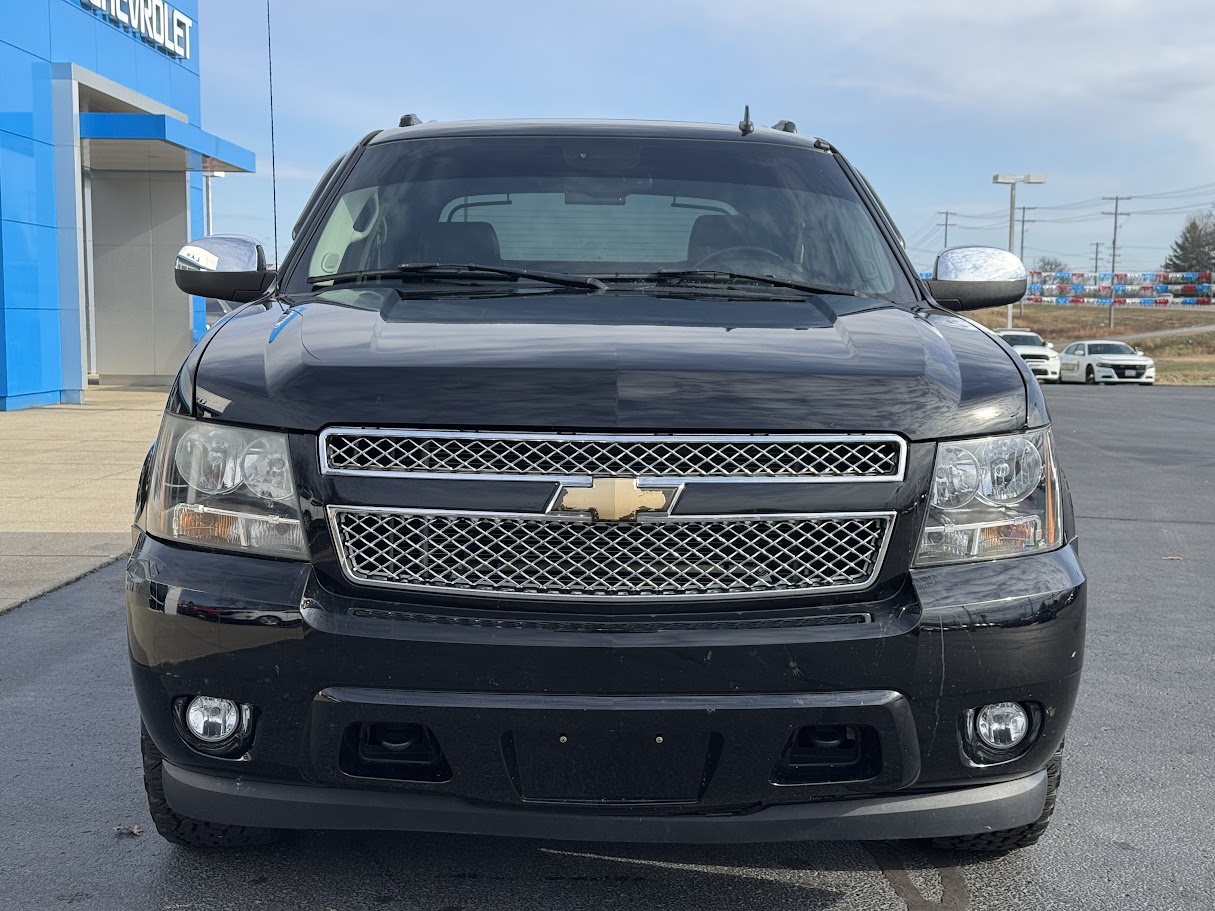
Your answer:
[[[140,712],[170,805],[190,816],[621,841],[927,837],[1035,819],[1083,663],[1073,547],[914,570],[882,601],[861,598],[780,617],[763,605],[546,622],[502,604],[453,616],[335,594],[305,564],[147,537],[128,572]],[[841,619],[855,617],[869,619]],[[198,694],[254,707],[241,756],[182,737],[175,702]],[[985,764],[960,719],[999,701],[1039,706],[1040,725],[1028,749]],[[351,769],[349,731],[374,723],[426,725],[448,774]],[[858,780],[782,779],[806,725],[865,728],[876,765]],[[563,753],[559,735],[598,746]],[[569,790],[571,769],[598,791]],[[620,786],[638,779],[621,769],[652,776],[649,791]]]

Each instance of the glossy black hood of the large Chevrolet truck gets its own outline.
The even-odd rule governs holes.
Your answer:
[[[352,424],[927,440],[1027,423],[1024,368],[940,311],[837,295],[379,294],[234,313],[199,360],[198,412],[307,432]]]

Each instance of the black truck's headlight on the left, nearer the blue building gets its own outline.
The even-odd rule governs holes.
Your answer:
[[[165,415],[151,487],[154,537],[307,559],[284,434]]]

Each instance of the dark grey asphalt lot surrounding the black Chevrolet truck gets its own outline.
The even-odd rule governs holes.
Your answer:
[[[990,859],[855,842],[301,833],[203,853],[140,783],[123,568],[0,617],[0,909],[1215,907],[1215,389],[1050,387],[1090,578],[1059,809]],[[140,826],[142,834],[128,831]]]

